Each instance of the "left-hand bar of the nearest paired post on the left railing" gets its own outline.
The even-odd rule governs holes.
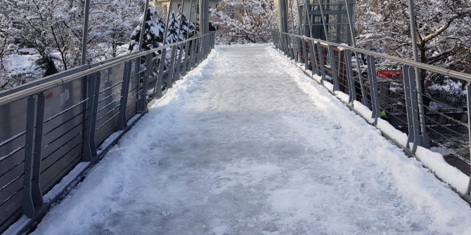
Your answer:
[[[31,95],[27,98],[26,136],[25,136],[25,172],[23,174],[22,213],[32,217],[35,213],[32,199],[34,118],[36,116],[36,99]]]

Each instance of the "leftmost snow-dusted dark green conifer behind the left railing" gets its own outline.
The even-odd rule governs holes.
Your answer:
[[[159,22],[155,23],[153,18],[159,18]],[[142,18],[140,19],[142,22]],[[142,23],[134,29],[131,35],[131,42],[129,42],[129,51],[138,51],[139,38],[141,36]],[[160,18],[159,14],[155,9],[148,8],[146,17],[146,27],[144,29],[144,38],[142,42],[142,48],[144,51],[148,51],[152,48],[162,46],[164,38],[164,22]]]

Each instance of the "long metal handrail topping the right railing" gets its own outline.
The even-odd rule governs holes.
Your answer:
[[[285,33],[285,32],[279,32],[278,30],[275,30],[275,29],[269,29],[269,31],[278,32],[280,34],[285,34],[285,35],[289,35],[289,36],[296,36],[296,37],[302,38],[302,39],[309,39],[309,40],[318,41],[318,42],[321,42],[325,45],[337,46],[339,48],[345,48],[349,51],[355,51],[355,52],[363,53],[365,55],[372,55],[372,56],[375,56],[376,58],[383,58],[383,59],[386,59],[386,60],[392,60],[394,62],[399,62],[399,63],[404,64],[404,65],[418,67],[420,69],[426,69],[426,70],[429,70],[431,72],[436,72],[436,73],[439,73],[439,74],[442,74],[442,75],[447,75],[447,76],[453,76],[457,79],[463,79],[467,82],[471,82],[471,74],[465,74],[463,72],[458,72],[458,71],[451,70],[451,69],[444,69],[442,67],[437,67],[435,65],[427,65],[427,64],[422,63],[422,62],[415,62],[413,60],[399,58],[399,57],[395,57],[395,56],[392,56],[392,55],[386,55],[386,54],[377,53],[377,52],[374,52],[374,51],[368,51],[368,50],[361,49],[361,48],[355,48],[355,47],[348,46],[348,45],[341,44],[341,43],[333,43],[333,42],[330,42],[330,41],[323,41],[321,39],[310,38],[308,36],[302,36],[302,35],[298,35],[298,34],[290,34],[290,33]]]

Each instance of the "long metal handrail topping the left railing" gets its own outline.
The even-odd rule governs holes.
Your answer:
[[[183,41],[179,41],[177,43],[172,43],[172,44],[169,44],[169,45],[165,45],[165,46],[162,46],[162,47],[159,47],[159,48],[154,48],[154,49],[149,50],[149,51],[141,51],[141,52],[136,52],[136,53],[130,53],[128,55],[123,55],[122,57],[119,57],[116,60],[105,63],[103,65],[98,65],[97,67],[92,67],[92,68],[86,69],[82,72],[77,72],[76,74],[71,74],[71,75],[65,76],[63,78],[58,78],[58,79],[55,79],[53,81],[49,81],[49,82],[46,82],[46,83],[39,84],[37,86],[33,86],[31,88],[26,88],[24,90],[20,90],[22,87],[7,90],[8,93],[11,93],[13,90],[18,89],[18,92],[11,93],[10,95],[5,95],[4,97],[1,97],[1,93],[0,93],[0,106],[1,105],[6,105],[10,102],[14,102],[16,100],[21,100],[22,98],[27,98],[28,96],[33,95],[35,93],[39,93],[42,90],[47,90],[49,88],[54,88],[56,86],[62,85],[63,83],[67,83],[67,82],[70,82],[70,81],[74,81],[76,79],[80,79],[83,76],[86,76],[87,74],[93,74],[95,72],[100,72],[103,69],[107,69],[109,67],[119,65],[122,62],[125,62],[125,61],[128,61],[128,60],[133,60],[133,59],[136,59],[136,58],[140,58],[140,57],[148,55],[150,53],[155,53],[157,51],[162,51],[162,49],[164,49],[164,48],[171,48],[172,46],[177,46],[177,45],[186,43],[188,41],[193,41],[194,39],[200,39],[200,38],[202,38],[202,37],[204,37],[208,34],[214,34],[214,33],[216,33],[216,32],[209,32],[209,33],[204,34],[204,35],[200,35],[200,36],[197,36],[197,37],[192,37],[190,39],[186,39],[186,40],[183,40]],[[54,74],[54,75],[51,75],[51,76],[57,76],[57,74]],[[50,79],[51,76],[48,76],[44,79]]]

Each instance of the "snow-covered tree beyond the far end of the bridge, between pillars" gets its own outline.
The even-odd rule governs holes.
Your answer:
[[[277,25],[278,13],[271,0],[222,0],[210,12],[228,43],[267,42],[271,36],[266,29]]]

